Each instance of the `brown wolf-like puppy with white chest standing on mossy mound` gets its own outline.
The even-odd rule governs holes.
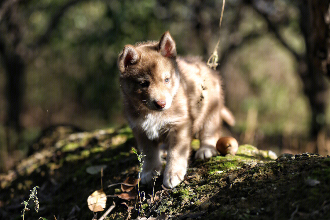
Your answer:
[[[118,67],[124,111],[146,155],[141,182],[160,172],[162,146],[168,150],[163,184],[173,188],[186,174],[192,138],[200,140],[196,158],[212,157],[217,154],[221,117],[233,123],[218,73],[198,58],[177,57],[169,32],[159,42],[126,45]]]

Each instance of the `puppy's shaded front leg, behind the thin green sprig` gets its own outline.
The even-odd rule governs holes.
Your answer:
[[[162,163],[160,161],[160,149],[157,141],[149,140],[144,134],[136,134],[138,148],[143,150],[142,158],[144,160],[141,172],[141,183],[146,184],[152,180],[152,177],[161,171]],[[156,172],[157,171],[157,172]]]

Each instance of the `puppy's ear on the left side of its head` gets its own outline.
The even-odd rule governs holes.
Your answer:
[[[134,64],[138,61],[139,54],[135,50],[134,46],[126,45],[123,52],[118,57],[118,68],[123,73],[129,64]]]

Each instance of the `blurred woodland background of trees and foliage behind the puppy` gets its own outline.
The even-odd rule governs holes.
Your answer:
[[[207,60],[222,1],[0,1],[1,169],[50,126],[118,127],[116,61],[169,30],[178,54]],[[226,0],[219,66],[242,143],[330,151],[329,1]],[[323,39],[324,38],[324,39]],[[325,63],[324,63],[325,62]]]

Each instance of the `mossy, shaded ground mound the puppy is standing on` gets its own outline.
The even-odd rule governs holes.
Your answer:
[[[198,141],[192,145],[198,148]],[[32,146],[31,156],[15,170],[0,174],[0,218],[21,219],[21,202],[39,186],[39,212],[31,201],[24,219],[91,220],[94,215],[86,200],[101,189],[101,167],[103,190],[109,196],[121,193],[120,185],[109,184],[137,176],[132,146],[129,128],[74,133],[57,127]],[[154,190],[153,183],[140,186],[146,195],[144,219],[330,219],[329,156],[302,153],[276,161],[273,156],[241,145],[235,156],[191,159],[184,181],[176,188],[163,190],[162,175]],[[150,200],[148,194],[156,192],[157,200]],[[108,197],[106,209],[113,201],[116,207],[110,219],[138,217],[136,199]],[[128,206],[137,208],[128,212]]]

